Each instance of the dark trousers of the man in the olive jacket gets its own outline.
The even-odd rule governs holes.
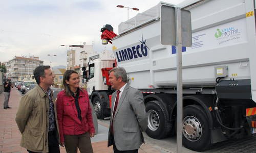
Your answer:
[[[49,153],[60,153],[59,151],[59,143],[56,138],[56,133],[55,132],[49,132],[48,133],[48,148],[49,148]],[[38,153],[38,152],[33,152],[28,150],[29,153]]]

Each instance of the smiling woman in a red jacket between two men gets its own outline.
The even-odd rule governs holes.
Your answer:
[[[67,70],[63,75],[62,90],[57,95],[57,114],[60,143],[67,152],[93,152],[91,137],[94,137],[92,110],[86,90],[79,88],[80,78],[76,71]]]

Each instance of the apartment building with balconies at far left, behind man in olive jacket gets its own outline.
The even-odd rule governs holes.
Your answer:
[[[5,62],[5,65],[7,70],[6,77],[17,81],[19,76],[33,75],[33,70],[39,65],[44,65],[44,61],[34,56],[29,58],[15,56],[12,60]]]

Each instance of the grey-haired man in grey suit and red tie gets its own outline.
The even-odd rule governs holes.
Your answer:
[[[109,82],[116,91],[112,94],[111,120],[108,147],[114,152],[138,152],[144,138],[141,131],[147,128],[147,115],[143,95],[127,83],[127,73],[122,67],[110,70]]]

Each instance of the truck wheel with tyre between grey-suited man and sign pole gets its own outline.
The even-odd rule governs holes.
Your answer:
[[[148,101],[145,105],[148,125],[146,134],[154,139],[167,137],[171,130],[168,114],[159,101]]]

